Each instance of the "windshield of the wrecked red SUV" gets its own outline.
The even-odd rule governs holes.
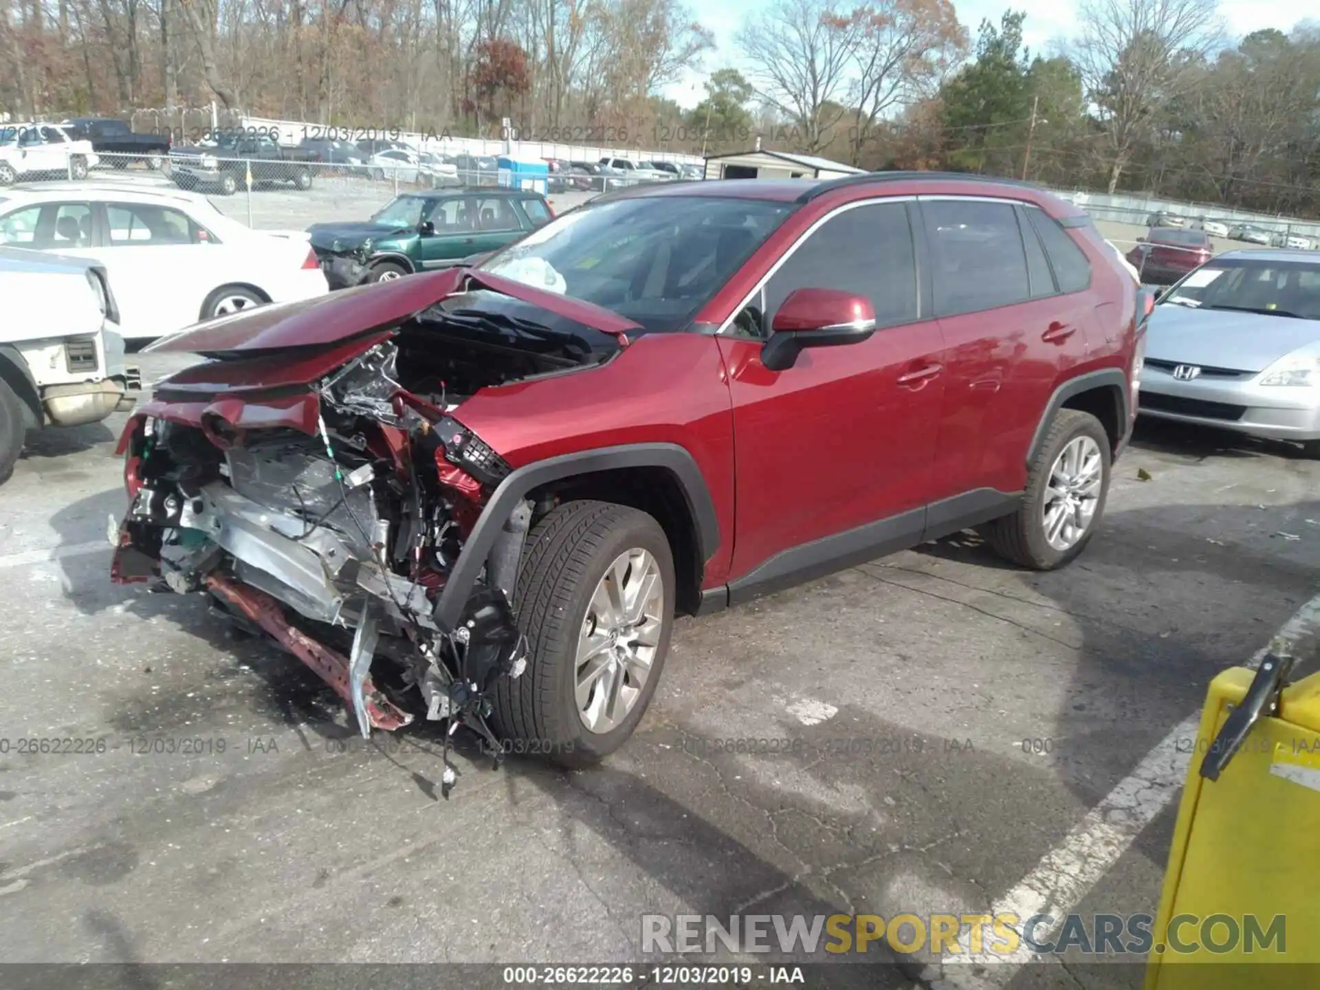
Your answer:
[[[642,197],[583,206],[480,269],[594,302],[648,331],[684,329],[792,211],[791,203]]]

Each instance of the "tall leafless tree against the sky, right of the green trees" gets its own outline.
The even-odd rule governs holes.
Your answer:
[[[1217,0],[1084,0],[1078,21],[1073,59],[1104,125],[1113,193],[1155,114],[1185,92],[1224,25]]]

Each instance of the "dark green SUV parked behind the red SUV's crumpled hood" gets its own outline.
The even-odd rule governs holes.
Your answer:
[[[331,289],[449,268],[554,219],[540,193],[480,186],[404,193],[367,222],[308,227]]]

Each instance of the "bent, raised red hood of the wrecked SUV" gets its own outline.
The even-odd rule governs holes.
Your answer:
[[[300,302],[242,310],[198,323],[144,350],[240,358],[257,356],[264,351],[326,347],[354,338],[362,338],[362,350],[367,350],[374,331],[393,327],[441,300],[473,289],[510,296],[576,319],[583,326],[618,337],[620,345],[627,343],[630,331],[642,329],[631,319],[593,302],[470,268],[449,268],[359,285]]]

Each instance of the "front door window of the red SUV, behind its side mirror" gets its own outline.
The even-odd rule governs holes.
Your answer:
[[[916,284],[907,206],[858,206],[826,220],[766,284],[766,326],[788,293],[804,288],[866,296],[878,327],[909,323],[917,318]]]

